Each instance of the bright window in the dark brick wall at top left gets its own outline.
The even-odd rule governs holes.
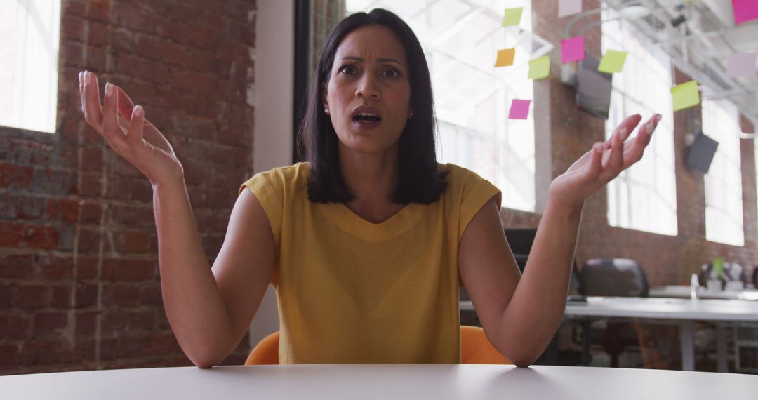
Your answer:
[[[0,0],[0,125],[55,132],[61,2]]]

